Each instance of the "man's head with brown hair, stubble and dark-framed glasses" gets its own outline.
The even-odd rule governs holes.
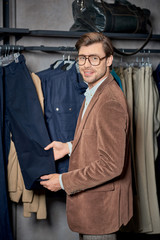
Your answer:
[[[89,87],[109,74],[113,61],[113,46],[102,33],[86,33],[77,41],[79,70]]]

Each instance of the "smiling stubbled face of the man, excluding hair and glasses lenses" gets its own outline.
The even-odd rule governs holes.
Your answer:
[[[89,46],[82,46],[79,50],[79,55],[84,55],[88,57],[89,55],[96,55],[100,58],[105,57],[105,52],[102,47],[102,43],[93,43]],[[109,74],[108,59],[104,58],[101,60],[98,66],[92,66],[91,63],[86,59],[84,65],[79,66],[80,73],[85,82],[88,83],[88,87],[92,88],[103,78],[107,77]]]

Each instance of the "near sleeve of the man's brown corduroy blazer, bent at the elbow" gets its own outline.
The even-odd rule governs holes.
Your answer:
[[[94,160],[83,168],[62,175],[64,189],[69,195],[111,182],[123,172],[128,132],[127,110],[115,100],[105,102],[96,114],[95,128],[96,140],[93,146],[88,144],[93,137],[89,129],[85,137],[88,157],[96,156]],[[75,152],[76,149],[72,158]]]

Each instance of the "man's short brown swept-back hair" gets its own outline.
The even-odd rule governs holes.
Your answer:
[[[111,40],[108,37],[106,37],[103,33],[99,33],[99,32],[89,32],[82,35],[77,41],[75,47],[79,52],[79,49],[82,46],[89,46],[93,43],[102,43],[103,49],[107,57],[113,55],[114,51],[113,51],[113,45],[111,43]]]

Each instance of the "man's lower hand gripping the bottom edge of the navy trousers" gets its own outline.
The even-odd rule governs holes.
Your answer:
[[[42,180],[40,181],[40,184],[47,188],[50,191],[57,192],[61,189],[61,185],[59,182],[59,174],[49,174],[49,175],[44,175],[41,177]]]

